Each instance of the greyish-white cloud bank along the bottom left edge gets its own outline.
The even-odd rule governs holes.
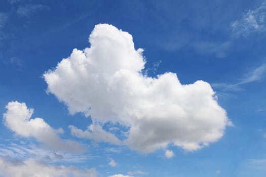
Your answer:
[[[2,176],[79,176],[94,177],[97,176],[95,169],[79,169],[72,166],[56,166],[43,162],[27,159],[20,161],[11,158],[0,158],[0,175]]]

